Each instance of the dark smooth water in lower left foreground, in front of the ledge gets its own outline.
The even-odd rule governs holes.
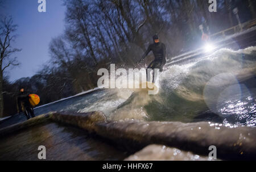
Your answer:
[[[0,160],[39,160],[40,145],[46,147],[48,161],[123,160],[129,156],[78,128],[46,122],[1,138]]]

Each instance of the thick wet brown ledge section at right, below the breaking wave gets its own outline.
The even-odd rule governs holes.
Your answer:
[[[217,148],[217,158],[253,160],[256,158],[256,128],[222,124],[180,122],[97,123],[96,133],[112,140],[163,144],[208,156],[209,147]]]

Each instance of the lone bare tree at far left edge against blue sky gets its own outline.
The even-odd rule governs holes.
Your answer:
[[[13,33],[16,31],[17,25],[13,24],[13,19],[3,18],[0,21],[0,117],[3,116],[3,72],[7,67],[18,66],[16,57],[11,55],[20,49],[12,48],[11,44],[15,40]]]

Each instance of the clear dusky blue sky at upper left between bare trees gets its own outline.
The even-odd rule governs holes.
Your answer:
[[[18,57],[19,67],[10,67],[7,75],[10,81],[36,74],[47,63],[51,38],[64,31],[65,7],[61,0],[46,0],[46,12],[38,12],[38,0],[4,0],[0,15],[12,16],[18,24],[14,48],[22,51]]]

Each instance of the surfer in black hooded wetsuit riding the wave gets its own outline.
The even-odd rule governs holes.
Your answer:
[[[147,51],[143,54],[141,60],[138,63],[141,63],[143,59],[146,58],[147,54],[150,53],[150,51],[153,51],[155,59],[150,63],[150,65],[148,65],[147,69],[151,68],[153,70],[152,83],[155,83],[154,69],[158,68],[159,71],[162,72],[163,66],[166,65],[166,45],[160,42],[159,36],[157,34],[153,36],[153,40],[154,44],[148,46]],[[150,81],[150,78],[147,78],[147,81]]]

